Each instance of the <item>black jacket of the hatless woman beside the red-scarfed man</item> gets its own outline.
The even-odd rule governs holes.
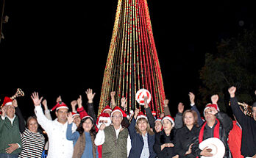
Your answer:
[[[200,128],[196,126],[193,126],[191,130],[189,130],[187,126],[182,126],[182,128],[177,129],[175,134],[174,151],[175,153],[179,154],[179,158],[196,158],[196,156],[194,156],[192,153],[188,155],[185,155],[185,153],[199,135],[199,129]]]

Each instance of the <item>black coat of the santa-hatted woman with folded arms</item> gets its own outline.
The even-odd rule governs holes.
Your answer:
[[[161,132],[158,132],[155,134],[155,141],[154,141],[154,151],[157,153],[158,158],[165,158],[165,157],[174,157],[174,147],[166,147],[163,148],[163,151],[161,151],[161,145],[165,143],[173,143],[174,141],[174,129],[171,129],[171,134],[169,136],[166,135],[166,132],[164,129]]]

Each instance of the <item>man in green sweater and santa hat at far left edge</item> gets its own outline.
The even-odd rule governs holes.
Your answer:
[[[4,98],[0,118],[0,157],[18,157],[21,152],[21,136],[13,100]]]

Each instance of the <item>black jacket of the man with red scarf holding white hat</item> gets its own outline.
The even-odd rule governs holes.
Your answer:
[[[230,148],[229,148],[229,146],[227,144],[227,137],[228,137],[228,135],[230,133],[230,130],[233,127],[232,120],[231,120],[231,118],[227,114],[225,114],[223,112],[218,112],[216,114],[216,118],[218,118],[218,120],[220,121],[219,138],[224,143],[224,146],[226,148],[226,152],[225,152],[224,158],[230,158],[232,156],[231,156],[231,153],[230,153]],[[206,129],[204,131],[203,140],[206,139],[205,135],[207,135],[207,130]],[[194,155],[196,155],[197,157],[199,157],[201,151],[202,150],[199,149],[199,137],[197,137],[194,145],[192,146],[192,153]]]

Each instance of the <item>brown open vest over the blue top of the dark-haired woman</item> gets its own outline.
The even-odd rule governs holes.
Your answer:
[[[96,158],[96,146],[94,144],[94,137],[90,135],[91,142],[93,143],[93,158]],[[85,132],[79,136],[76,145],[74,146],[74,152],[72,158],[81,158],[85,151]]]

